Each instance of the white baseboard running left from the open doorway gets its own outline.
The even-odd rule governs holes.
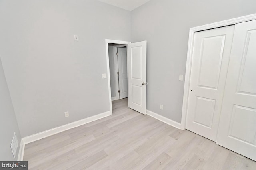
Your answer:
[[[56,128],[52,128],[52,129],[49,129],[49,130],[46,130],[46,131],[43,131],[43,132],[39,132],[39,133],[36,133],[36,134],[32,134],[30,136],[24,137],[24,138],[21,139],[21,142],[20,142],[20,150],[19,150],[19,154],[18,154],[18,160],[20,160],[20,161],[23,160],[25,144],[34,142],[36,140],[40,140],[42,138],[46,138],[48,136],[52,136],[54,134],[63,132],[65,130],[69,130],[71,128],[75,128],[75,127],[84,125],[86,123],[90,123],[92,121],[96,121],[98,119],[102,119],[102,118],[110,116],[110,115],[111,115],[111,112],[107,111],[107,112],[104,112],[104,113],[100,113],[98,115],[87,117],[85,119],[81,119],[81,120],[78,120],[78,121],[75,121],[75,122],[72,122],[72,123],[68,123],[66,125],[62,125],[62,126],[59,126],[59,127],[56,127]]]

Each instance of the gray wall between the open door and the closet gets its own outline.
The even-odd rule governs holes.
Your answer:
[[[253,14],[255,6],[255,0],[151,0],[133,10],[132,42],[148,41],[147,109],[180,123],[189,28]]]

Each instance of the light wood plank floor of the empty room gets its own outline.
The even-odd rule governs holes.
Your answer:
[[[26,144],[29,169],[256,170],[256,162],[113,101],[113,115]]]

